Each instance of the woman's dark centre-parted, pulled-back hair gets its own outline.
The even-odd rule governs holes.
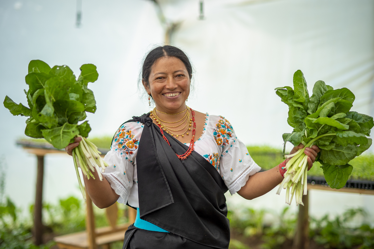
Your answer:
[[[165,46],[159,46],[159,47],[152,49],[144,59],[141,76],[142,76],[142,79],[144,79],[147,84],[149,84],[148,78],[151,73],[153,64],[159,58],[164,57],[164,56],[166,57],[174,56],[180,59],[183,62],[183,64],[186,66],[188,76],[190,76],[190,80],[191,80],[192,67],[191,67],[191,63],[187,55],[182,50],[178,49],[178,47],[165,45]]]

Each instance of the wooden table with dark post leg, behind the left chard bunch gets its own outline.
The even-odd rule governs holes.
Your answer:
[[[42,236],[44,225],[42,222],[42,208],[43,208],[43,177],[44,177],[44,156],[49,153],[63,153],[67,155],[65,150],[58,150],[51,144],[45,142],[33,142],[26,139],[16,141],[16,144],[21,145],[28,153],[34,154],[37,157],[37,174],[36,174],[36,193],[34,205],[34,240],[35,245],[42,244]],[[104,157],[109,150],[98,149]]]

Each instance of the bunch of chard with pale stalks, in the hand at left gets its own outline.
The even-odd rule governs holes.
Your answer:
[[[3,103],[14,116],[29,117],[26,120],[25,135],[45,138],[57,149],[65,148],[70,142],[74,142],[75,137],[82,137],[79,146],[73,150],[73,160],[79,187],[86,200],[78,167],[88,179],[93,177],[92,172],[96,170],[102,180],[101,172],[108,165],[101,159],[97,147],[86,139],[91,131],[88,121],[78,124],[86,119],[86,111],[96,111],[93,92],[87,86],[88,82],[95,82],[99,74],[93,64],[82,65],[80,71],[80,76],[76,79],[73,71],[66,65],[50,68],[43,61],[30,61],[25,77],[29,89],[24,90],[30,108],[21,103],[16,104],[8,96]]]

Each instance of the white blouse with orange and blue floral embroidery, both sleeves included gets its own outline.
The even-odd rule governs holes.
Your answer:
[[[143,128],[140,122],[120,126],[104,157],[109,166],[103,175],[120,196],[117,201],[128,202],[133,207],[139,207],[136,156]],[[204,131],[195,141],[194,150],[217,169],[230,194],[239,191],[249,176],[261,169],[237,139],[230,122],[222,116],[206,114]]]

